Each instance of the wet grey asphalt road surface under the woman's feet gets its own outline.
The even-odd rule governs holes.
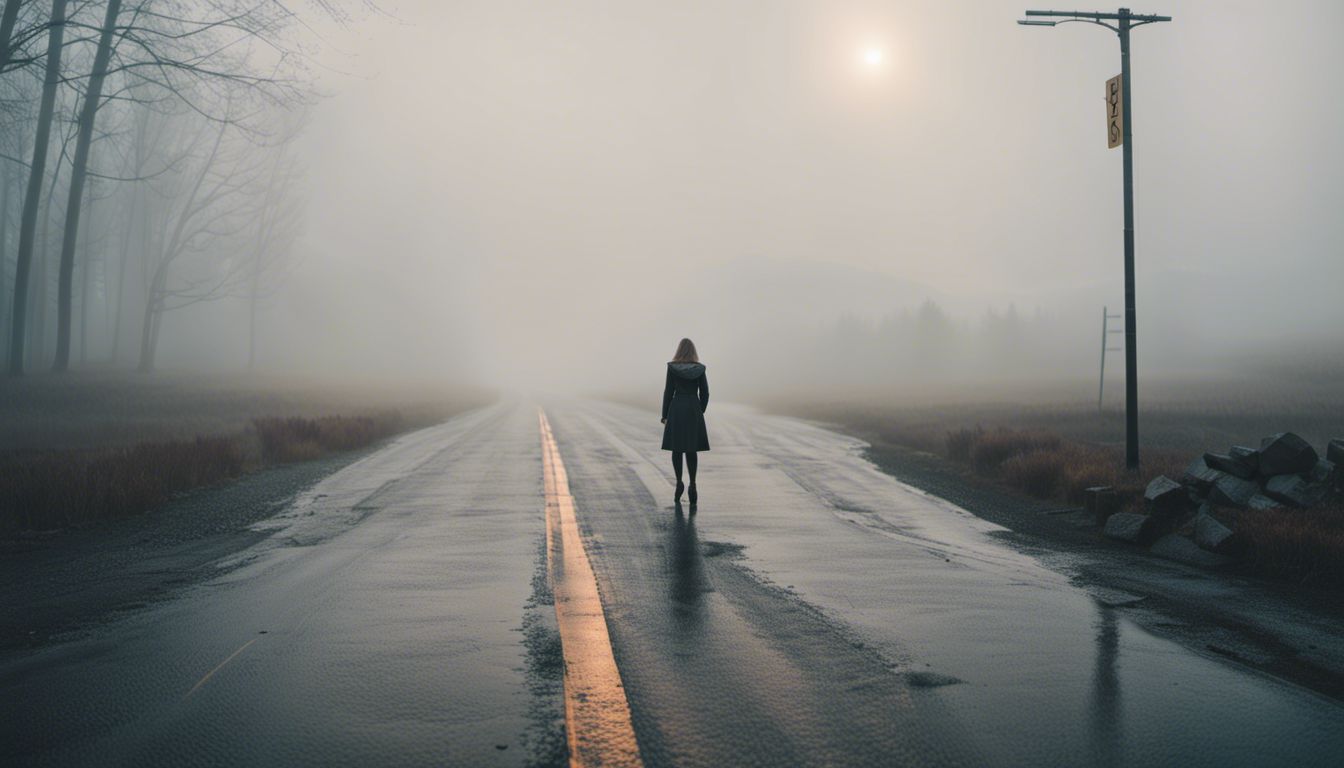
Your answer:
[[[646,765],[1329,765],[1344,707],[1146,633],[847,437],[543,401]],[[536,405],[395,441],[219,577],[0,658],[11,765],[564,761]],[[1052,561],[1054,562],[1054,561]]]

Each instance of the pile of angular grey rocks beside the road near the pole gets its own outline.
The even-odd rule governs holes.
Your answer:
[[[1242,510],[1302,514],[1344,494],[1344,440],[1322,459],[1297,434],[1266,437],[1259,448],[1234,445],[1191,461],[1179,480],[1159,475],[1144,492],[1145,512],[1113,512],[1109,488],[1089,488],[1087,503],[1103,533],[1150,546],[1157,554],[1200,565],[1231,562],[1246,551],[1236,534]]]

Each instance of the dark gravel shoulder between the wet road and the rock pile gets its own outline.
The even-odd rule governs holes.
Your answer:
[[[1145,629],[1344,701],[1340,596],[1212,572],[1111,542],[1081,510],[1013,494],[931,453],[878,443],[867,455],[902,483],[1004,526],[999,535],[1007,542],[1068,574]]]

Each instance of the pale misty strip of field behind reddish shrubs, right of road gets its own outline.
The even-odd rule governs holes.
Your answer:
[[[1105,408],[1097,382],[961,382],[892,386],[857,394],[802,393],[758,398],[769,410],[820,421],[870,425],[868,432],[931,452],[948,433],[999,428],[1044,432],[1090,445],[1124,448],[1122,381],[1107,381]],[[1296,432],[1312,445],[1344,437],[1344,359],[1325,367],[1257,369],[1245,374],[1164,377],[1140,382],[1140,447],[1183,455],[1259,445],[1278,432]]]

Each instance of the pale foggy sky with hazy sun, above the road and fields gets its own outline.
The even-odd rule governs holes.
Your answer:
[[[173,280],[228,282],[153,328],[156,367],[247,367],[255,311],[254,367],[269,371],[657,389],[685,335],[732,399],[1095,377],[1102,307],[1124,304],[1107,30],[1019,27],[1021,0],[352,5],[296,5],[285,39],[302,94],[210,86],[253,121],[222,140],[251,191],[187,245]],[[97,28],[102,7],[78,13]],[[1141,374],[1339,355],[1344,109],[1329,93],[1344,5],[1136,11],[1175,17],[1133,38]],[[276,50],[253,46],[249,66],[292,61]],[[32,152],[42,63],[0,78],[15,105],[0,238],[12,292],[13,159]],[[117,93],[136,87],[151,86]],[[48,175],[79,89],[58,98]],[[138,363],[153,262],[125,223],[133,187],[175,200],[192,179],[156,159],[165,175],[112,179],[134,175],[125,147],[199,159],[214,136],[192,109],[160,112],[160,140],[121,102],[99,117],[109,137],[90,164],[109,178],[94,195],[112,202],[94,203],[75,252],[94,265],[83,284],[75,272],[93,293],[85,366],[109,364],[117,328],[114,364]],[[258,247],[267,210],[284,214]],[[51,313],[59,253],[51,235],[35,257]],[[116,305],[120,258],[132,299]],[[9,299],[0,308],[8,338]]]

